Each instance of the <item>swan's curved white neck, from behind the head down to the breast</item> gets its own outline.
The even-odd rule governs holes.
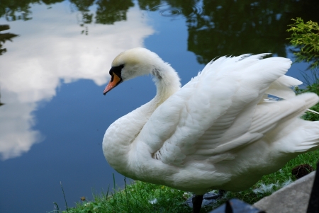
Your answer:
[[[156,108],[181,86],[177,72],[169,64],[163,62],[162,66],[154,67],[150,73],[157,87],[155,98],[113,122],[103,138],[103,153],[106,160],[123,175],[129,174],[129,152],[140,130]]]

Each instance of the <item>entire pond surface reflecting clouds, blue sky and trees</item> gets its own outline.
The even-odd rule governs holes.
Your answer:
[[[50,212],[123,176],[104,159],[114,120],[155,96],[149,76],[103,96],[112,59],[144,46],[182,84],[225,54],[293,59],[291,18],[319,21],[319,1],[26,0],[0,3],[0,212]],[[9,25],[9,26],[8,26]],[[302,79],[307,64],[289,75]]]

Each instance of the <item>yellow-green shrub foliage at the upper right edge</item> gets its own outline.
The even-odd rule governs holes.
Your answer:
[[[303,22],[303,19],[292,19],[294,24],[289,25],[287,31],[292,32],[291,44],[300,47],[300,50],[293,52],[296,62],[310,63],[310,69],[319,68],[319,26],[313,21]]]

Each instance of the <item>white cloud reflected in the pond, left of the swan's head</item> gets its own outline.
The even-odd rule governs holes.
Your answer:
[[[6,43],[8,52],[0,57],[1,102],[6,103],[0,108],[2,160],[21,156],[44,139],[32,129],[33,112],[40,101],[55,96],[61,82],[91,79],[98,86],[106,84],[111,60],[142,46],[154,33],[136,6],[129,9],[127,21],[89,25],[89,35],[81,34],[76,16],[67,4],[50,9],[36,5],[31,21],[10,23],[20,36]]]

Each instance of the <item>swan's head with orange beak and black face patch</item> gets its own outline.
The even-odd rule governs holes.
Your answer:
[[[145,74],[159,75],[160,65],[164,63],[155,53],[142,47],[126,50],[118,54],[110,69],[111,81],[103,91],[105,95],[123,81]]]

